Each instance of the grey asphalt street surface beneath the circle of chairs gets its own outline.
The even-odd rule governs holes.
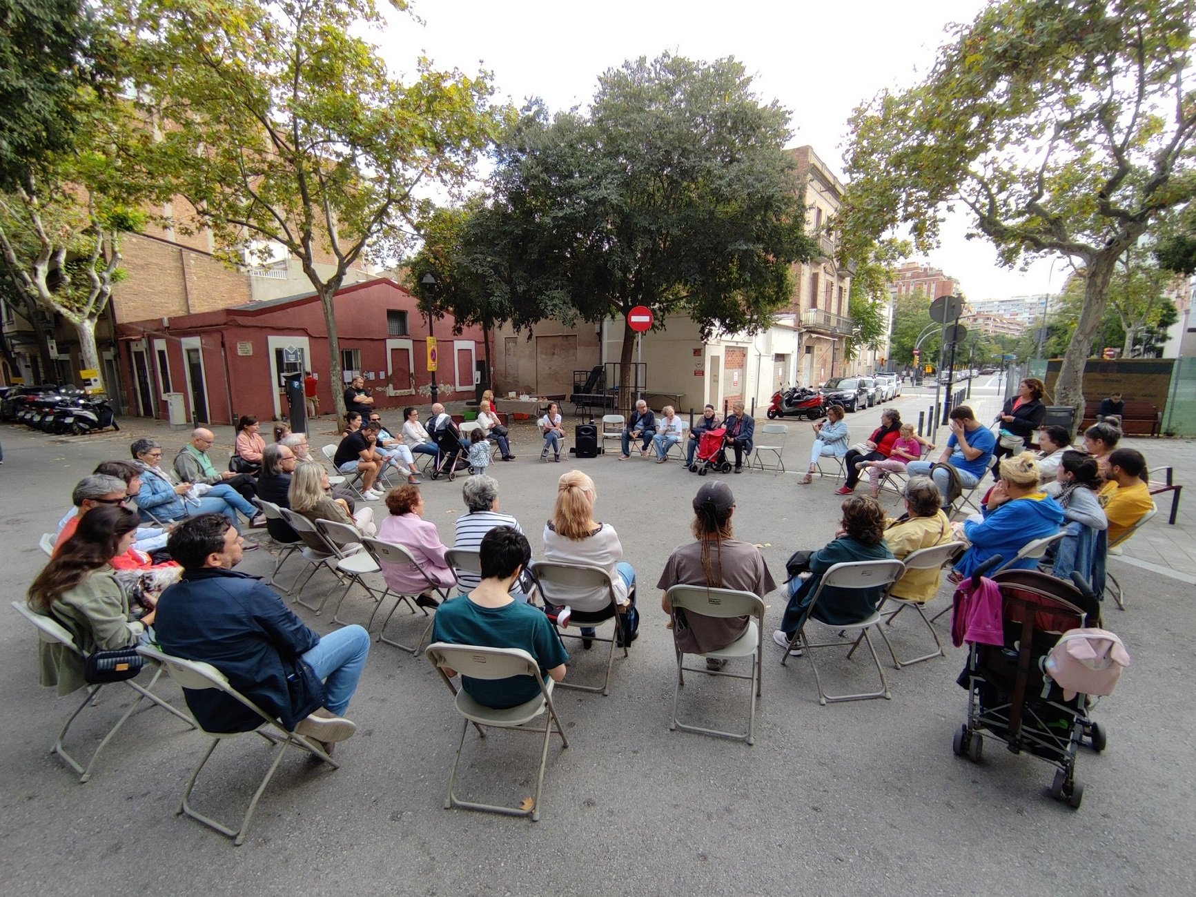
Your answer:
[[[928,403],[925,395],[907,395],[895,404],[916,420]],[[853,441],[878,421],[879,409],[849,415]],[[80,476],[99,460],[128,457],[129,441],[147,432],[161,439],[167,459],[185,439],[158,423],[126,421],[126,427],[75,440],[23,427],[0,431],[0,538],[11,553],[10,600],[24,598],[44,562],[37,539],[53,531]],[[227,450],[228,428],[219,435]],[[791,471],[804,470],[810,441],[806,423],[791,426],[785,450]],[[1052,770],[1030,756],[1014,756],[996,742],[986,745],[978,764],[952,755],[951,738],[965,715],[965,692],[956,684],[965,653],[950,647],[945,626],[946,658],[899,672],[886,666],[891,701],[828,707],[818,704],[808,661],[792,659],[782,667],[780,649],[767,640],[755,746],[670,732],[675,661],[654,586],[669,553],[690,538],[690,500],[702,481],[675,463],[620,463],[616,452],[541,463],[538,441],[523,427],[514,429],[513,446],[518,460],[490,472],[501,483],[501,509],[521,521],[533,551],[542,544],[556,477],[575,464],[597,483],[598,519],[620,532],[643,614],[630,657],[616,657],[609,697],[557,691],[570,746],[562,750],[557,742],[550,749],[541,822],[443,808],[459,732],[450,695],[422,657],[374,643],[349,714],[360,730],[340,746],[341,768],[283,759],[246,843],[233,847],[176,814],[206,739],[169,714],[135,714],[86,785],[49,755],[75,702],[37,685],[35,635],[7,610],[10,624],[0,630],[0,671],[10,683],[2,697],[8,725],[0,728],[4,890],[42,897],[181,890],[1192,892],[1190,585],[1139,569],[1122,576],[1130,606],[1106,609],[1106,626],[1125,640],[1134,664],[1097,710],[1109,730],[1107,750],[1081,751],[1078,777],[1087,791],[1078,811],[1048,797]],[[779,580],[793,549],[820,547],[837,523],[832,477],[801,487],[798,475],[726,477],[737,499],[736,535],[763,545]],[[452,521],[463,509],[460,481],[426,481],[422,492],[426,517],[451,542]],[[385,514],[382,504],[376,507]],[[268,573],[270,563],[266,550],[252,551],[243,568]],[[289,562],[280,581],[289,584],[297,572]],[[307,593],[330,582],[319,574]],[[946,600],[945,587],[936,603]],[[783,600],[774,593],[768,602],[770,634]],[[365,623],[371,609],[368,597],[354,590],[343,614]],[[327,615],[297,610],[318,631],[331,628]],[[416,626],[404,621],[397,635],[414,639]],[[895,645],[907,654],[926,639],[904,615],[895,627]],[[592,681],[600,671],[599,651],[570,649],[569,678]],[[872,684],[866,654],[824,663],[830,688]],[[80,752],[127,707],[121,691],[106,689],[80,716],[71,734]],[[175,684],[160,691],[182,704]],[[682,706],[706,725],[733,727],[746,719],[746,698],[744,682],[690,675]],[[239,818],[270,759],[266,743],[251,736],[221,745],[194,800],[210,814]],[[518,803],[532,793],[537,759],[535,738],[494,733],[481,740],[471,733],[459,793]]]

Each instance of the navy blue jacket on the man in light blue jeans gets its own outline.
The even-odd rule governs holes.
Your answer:
[[[212,664],[287,730],[316,707],[292,707],[287,678],[319,642],[257,576],[220,568],[187,570],[161,593],[154,636],[167,654]],[[187,706],[208,732],[251,732],[262,719],[215,689],[183,689]],[[322,696],[321,696],[322,697]]]

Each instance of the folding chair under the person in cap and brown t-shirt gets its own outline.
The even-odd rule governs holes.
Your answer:
[[[669,730],[676,732],[697,732],[719,738],[732,738],[736,740],[756,743],[756,698],[763,690],[762,666],[764,663],[764,602],[751,592],[739,592],[732,588],[709,588],[707,586],[672,586],[669,590],[669,606],[672,608],[673,626],[678,626],[677,611],[684,610],[687,614],[700,614],[707,617],[752,617],[748,621],[748,629],[731,645],[706,654],[697,654],[701,658],[715,658],[727,660],[731,658],[750,657],[751,672],[743,673],[726,672],[724,670],[710,670],[697,666],[685,666],[685,655],[677,651],[677,678],[673,682],[673,718]],[[676,646],[675,646],[676,647]],[[685,684],[685,670],[690,672],[702,672],[708,676],[730,676],[733,679],[749,679],[751,685],[751,700],[748,710],[746,732],[724,732],[716,728],[702,728],[690,726],[677,719],[677,697],[682,685]]]

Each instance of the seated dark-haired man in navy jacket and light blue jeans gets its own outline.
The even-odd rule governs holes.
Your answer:
[[[220,514],[178,525],[167,543],[183,576],[163,592],[154,641],[167,654],[212,664],[288,732],[325,752],[356,731],[344,712],[370,653],[370,634],[347,626],[318,635],[257,576],[236,573],[240,536]],[[262,719],[218,689],[183,689],[206,732],[250,732]]]

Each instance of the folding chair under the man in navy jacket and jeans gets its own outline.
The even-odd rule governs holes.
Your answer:
[[[209,829],[215,829],[221,835],[226,835],[233,840],[233,843],[238,847],[244,843],[245,834],[249,831],[249,823],[254,818],[254,811],[257,810],[257,801],[262,797],[262,792],[266,791],[266,786],[270,783],[270,779],[274,777],[275,770],[279,768],[279,763],[282,762],[283,755],[286,755],[287,749],[294,745],[301,751],[306,751],[313,757],[328,763],[332,769],[337,769],[337,763],[324,749],[321,748],[319,743],[306,738],[305,736],[297,734],[295,732],[288,732],[286,727],[275,718],[270,716],[266,710],[258,707],[256,703],[250,701],[237,689],[228,684],[228,679],[225,678],[224,673],[216,670],[210,664],[203,664],[196,660],[184,660],[183,658],[172,657],[165,654],[157,648],[142,645],[138,648],[138,653],[142,654],[151,660],[165,666],[170,670],[170,676],[184,689],[194,689],[196,691],[202,689],[218,689],[224,691],[230,697],[233,697],[250,710],[256,713],[262,718],[262,724],[252,730],[267,742],[270,742],[274,746],[282,745],[282,750],[277,752],[270,768],[266,770],[266,776],[262,779],[262,783],[257,786],[257,791],[254,792],[252,799],[249,801],[249,808],[245,811],[245,816],[240,820],[240,828],[231,829],[227,825],[205,816],[203,813],[195,810],[190,804],[191,789],[195,787],[195,781],[200,777],[200,771],[203,765],[208,762],[212,752],[216,749],[222,740],[227,738],[237,738],[238,736],[249,734],[248,732],[209,732],[203,730],[203,733],[212,739],[212,744],[200,757],[199,765],[191,770],[191,775],[187,779],[187,785],[183,787],[183,799],[179,803],[178,812],[184,813],[193,819],[203,823]]]

